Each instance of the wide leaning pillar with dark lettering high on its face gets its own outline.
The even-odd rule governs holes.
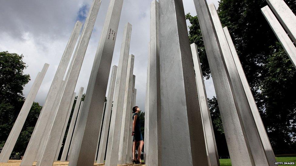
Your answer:
[[[78,132],[74,137],[73,155],[69,158],[69,166],[92,165],[96,154],[99,123],[102,119],[103,108],[114,45],[123,0],[111,0],[103,26],[93,68],[90,73],[86,90],[85,103],[82,107]]]

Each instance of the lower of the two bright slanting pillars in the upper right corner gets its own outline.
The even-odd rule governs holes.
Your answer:
[[[280,2],[282,0],[278,0],[278,1]],[[267,2],[268,2],[268,0],[267,0]],[[265,6],[265,7],[261,8],[261,11],[262,11],[265,19],[267,20],[268,24],[270,25],[272,31],[277,36],[278,41],[280,41],[282,47],[284,48],[285,52],[287,53],[288,57],[290,58],[291,62],[294,65],[294,67],[296,68],[296,47],[295,47],[295,45],[290,40],[290,37],[287,35],[284,28],[278,22],[278,19],[274,16],[274,14],[270,10],[270,8],[268,8],[268,6]],[[296,22],[296,20],[295,20],[295,22]],[[296,36],[295,25],[296,24],[294,24],[293,28],[295,29],[295,36]]]

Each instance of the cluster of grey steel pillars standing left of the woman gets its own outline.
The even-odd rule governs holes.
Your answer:
[[[74,93],[100,4],[100,0],[93,0],[83,28],[81,22],[75,24],[22,159],[22,166],[32,165],[34,161],[37,161],[36,165],[52,165],[53,161],[58,160],[62,147],[60,160],[70,161],[69,165],[93,165],[97,156],[97,162],[103,163],[105,155],[113,156],[112,160],[111,157],[106,159],[106,165],[126,164],[132,159],[132,136],[129,133],[132,130],[131,110],[136,99],[136,76],[133,75],[134,55],[129,54],[130,23],[125,26],[119,65],[112,67],[107,102],[104,101],[123,0],[110,1],[84,101],[81,101],[83,87],[77,98]],[[48,64],[45,64],[33,83],[2,150],[1,162],[7,162],[10,157],[47,68]],[[62,146],[75,98],[66,141]],[[118,158],[118,161],[114,158]]]

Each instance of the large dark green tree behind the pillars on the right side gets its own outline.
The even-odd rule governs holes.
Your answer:
[[[295,13],[295,1],[284,1]],[[230,31],[275,154],[296,153],[296,71],[261,13],[265,5],[265,0],[220,0],[217,11]],[[198,45],[203,75],[208,79],[210,70],[197,16],[188,13],[186,18],[192,24],[189,39]],[[212,118],[214,132],[222,135],[222,124],[216,118]]]

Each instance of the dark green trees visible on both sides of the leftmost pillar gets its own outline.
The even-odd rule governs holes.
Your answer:
[[[0,147],[4,146],[25,101],[22,91],[30,80],[23,71],[26,67],[23,55],[0,52]],[[12,156],[24,154],[41,109],[39,103],[32,104]]]

